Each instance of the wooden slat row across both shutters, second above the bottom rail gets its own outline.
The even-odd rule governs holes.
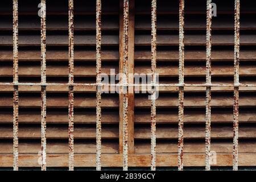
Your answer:
[[[149,123],[148,123],[149,124]],[[240,126],[239,135],[240,139],[255,139],[256,138],[255,126]],[[94,126],[76,126],[74,130],[75,139],[94,139],[96,138],[96,128]],[[57,135],[56,135],[57,134]],[[117,139],[119,137],[117,126],[103,126],[102,138]],[[156,131],[157,139],[177,139],[178,129],[177,126],[164,126],[158,125]],[[0,126],[0,138],[12,139],[13,127]],[[41,131],[40,126],[19,126],[20,139],[40,139]],[[67,139],[68,126],[47,126],[48,139]],[[134,128],[135,139],[150,139],[150,125],[148,126],[135,126]],[[184,127],[185,139],[204,139],[205,127],[204,126],[185,126]],[[212,139],[232,139],[233,130],[232,126],[212,126],[211,131]]]

